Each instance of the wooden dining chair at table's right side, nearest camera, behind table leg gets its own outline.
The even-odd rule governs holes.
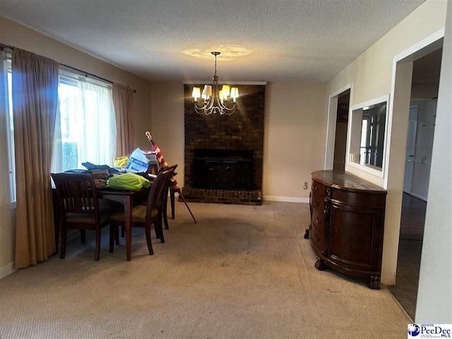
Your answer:
[[[146,205],[133,206],[132,209],[132,226],[145,227],[146,243],[150,255],[154,254],[153,245],[150,237],[150,229],[154,226],[155,236],[160,238],[160,242],[165,242],[162,230],[162,192],[165,189],[165,181],[171,177],[174,169],[160,172],[150,186],[148,201]],[[109,217],[110,222],[110,252],[113,251],[114,242],[119,244],[119,226],[124,227],[125,224],[124,210],[112,213]]]

